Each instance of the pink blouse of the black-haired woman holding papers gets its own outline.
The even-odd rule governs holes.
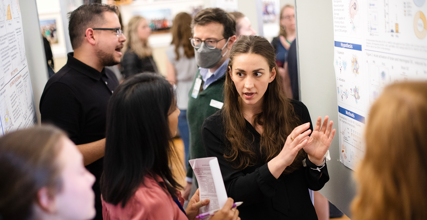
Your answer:
[[[163,179],[156,176],[158,182],[164,185]],[[144,185],[135,192],[126,206],[122,203],[114,206],[102,199],[102,217],[104,220],[188,220],[187,216],[166,189],[162,188],[153,177],[144,177]],[[181,205],[184,201],[178,193]]]

